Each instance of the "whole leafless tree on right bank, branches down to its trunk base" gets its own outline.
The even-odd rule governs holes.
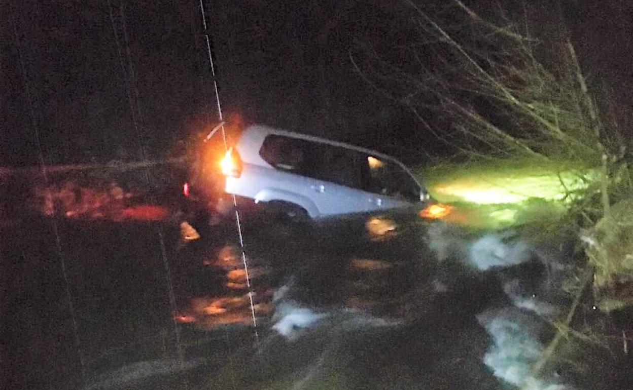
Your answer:
[[[441,8],[403,1],[410,6],[409,20],[417,35],[416,42],[407,42],[413,64],[394,64],[378,52],[370,52],[370,60],[363,63],[351,56],[368,83],[409,107],[429,134],[458,157],[581,168],[579,177],[590,184],[573,211],[582,216],[584,232],[596,234],[584,237],[589,243],[587,262],[579,264],[582,277],[575,283],[573,305],[555,324],[558,333],[536,365],[537,372],[568,335],[586,341],[587,335],[573,331],[571,323],[587,284],[609,296],[605,288],[611,281],[630,276],[633,269],[633,253],[622,252],[622,237],[616,240],[605,233],[605,226],[617,225],[618,232],[631,226],[630,217],[622,225],[622,215],[611,215],[624,215],[617,210],[633,207],[633,201],[622,200],[633,190],[627,163],[630,141],[621,130],[626,123],[610,115],[617,105],[612,95],[597,100],[591,94],[560,8],[553,6],[548,23],[538,24],[532,23],[527,6],[482,13],[461,0]],[[633,242],[633,230],[627,229],[625,239]],[[613,243],[615,249],[608,250],[606,245]],[[621,259],[609,255],[616,252],[622,252]],[[633,276],[627,280],[633,284]],[[613,300],[605,302],[613,306]],[[617,300],[618,307],[631,302],[633,296]]]

